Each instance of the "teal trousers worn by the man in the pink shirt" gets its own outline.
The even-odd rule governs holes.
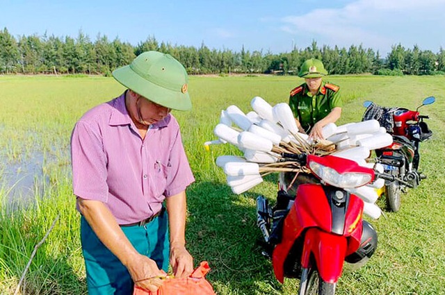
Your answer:
[[[154,260],[159,269],[168,271],[170,243],[167,212],[145,226],[124,226],[122,230],[139,253]],[[134,284],[127,268],[102,244],[85,217],[81,217],[81,244],[88,294],[133,294]]]

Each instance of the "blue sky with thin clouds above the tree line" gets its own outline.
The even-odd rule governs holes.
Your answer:
[[[391,46],[445,48],[445,0],[24,1],[0,0],[0,28],[18,35],[97,34],[133,45],[159,42],[211,49],[289,52],[362,44],[382,56]]]

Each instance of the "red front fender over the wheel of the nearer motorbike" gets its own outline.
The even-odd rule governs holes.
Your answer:
[[[312,254],[321,278],[327,283],[337,283],[343,270],[347,248],[346,237],[326,233],[319,228],[309,228],[302,250],[302,267],[310,266]]]

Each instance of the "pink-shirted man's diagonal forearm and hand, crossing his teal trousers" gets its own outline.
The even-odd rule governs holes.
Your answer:
[[[163,283],[160,278],[156,277],[163,277],[165,273],[158,269],[154,260],[140,255],[136,251],[106,205],[101,201],[81,198],[77,199],[77,203],[83,217],[88,221],[97,237],[127,267],[131,278],[135,282],[141,280],[136,285],[156,292]],[[143,280],[145,278],[151,279]]]

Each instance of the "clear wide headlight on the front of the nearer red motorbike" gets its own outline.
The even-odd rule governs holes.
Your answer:
[[[309,168],[325,183],[335,187],[353,188],[361,187],[371,182],[371,174],[360,172],[344,172],[340,174],[335,169],[321,165],[315,161],[309,161]]]

